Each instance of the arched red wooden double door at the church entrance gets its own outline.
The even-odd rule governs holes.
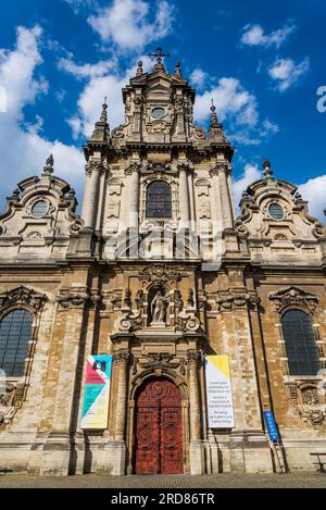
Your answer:
[[[181,399],[171,381],[153,378],[140,390],[136,410],[136,473],[184,472]]]

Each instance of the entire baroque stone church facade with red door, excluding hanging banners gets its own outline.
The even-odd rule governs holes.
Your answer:
[[[234,148],[179,64],[141,62],[85,145],[80,216],[49,158],[0,215],[0,470],[314,469],[326,449],[326,228],[274,176],[231,194]],[[82,427],[87,359],[112,356],[106,425]],[[233,427],[210,427],[205,360],[228,357]],[[5,378],[3,374],[5,373]],[[273,411],[280,450],[269,440]]]

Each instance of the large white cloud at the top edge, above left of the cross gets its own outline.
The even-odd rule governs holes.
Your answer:
[[[156,3],[153,20],[150,3],[143,0],[114,0],[88,17],[90,26],[103,42],[113,42],[121,50],[142,50],[153,40],[170,34],[174,7],[166,0]]]

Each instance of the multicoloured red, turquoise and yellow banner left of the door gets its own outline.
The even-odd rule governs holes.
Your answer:
[[[89,356],[82,412],[82,428],[106,428],[112,356]]]

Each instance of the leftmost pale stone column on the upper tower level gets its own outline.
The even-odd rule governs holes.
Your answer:
[[[85,226],[95,228],[98,210],[99,181],[102,171],[100,161],[89,161],[86,165],[86,184],[82,219]]]

